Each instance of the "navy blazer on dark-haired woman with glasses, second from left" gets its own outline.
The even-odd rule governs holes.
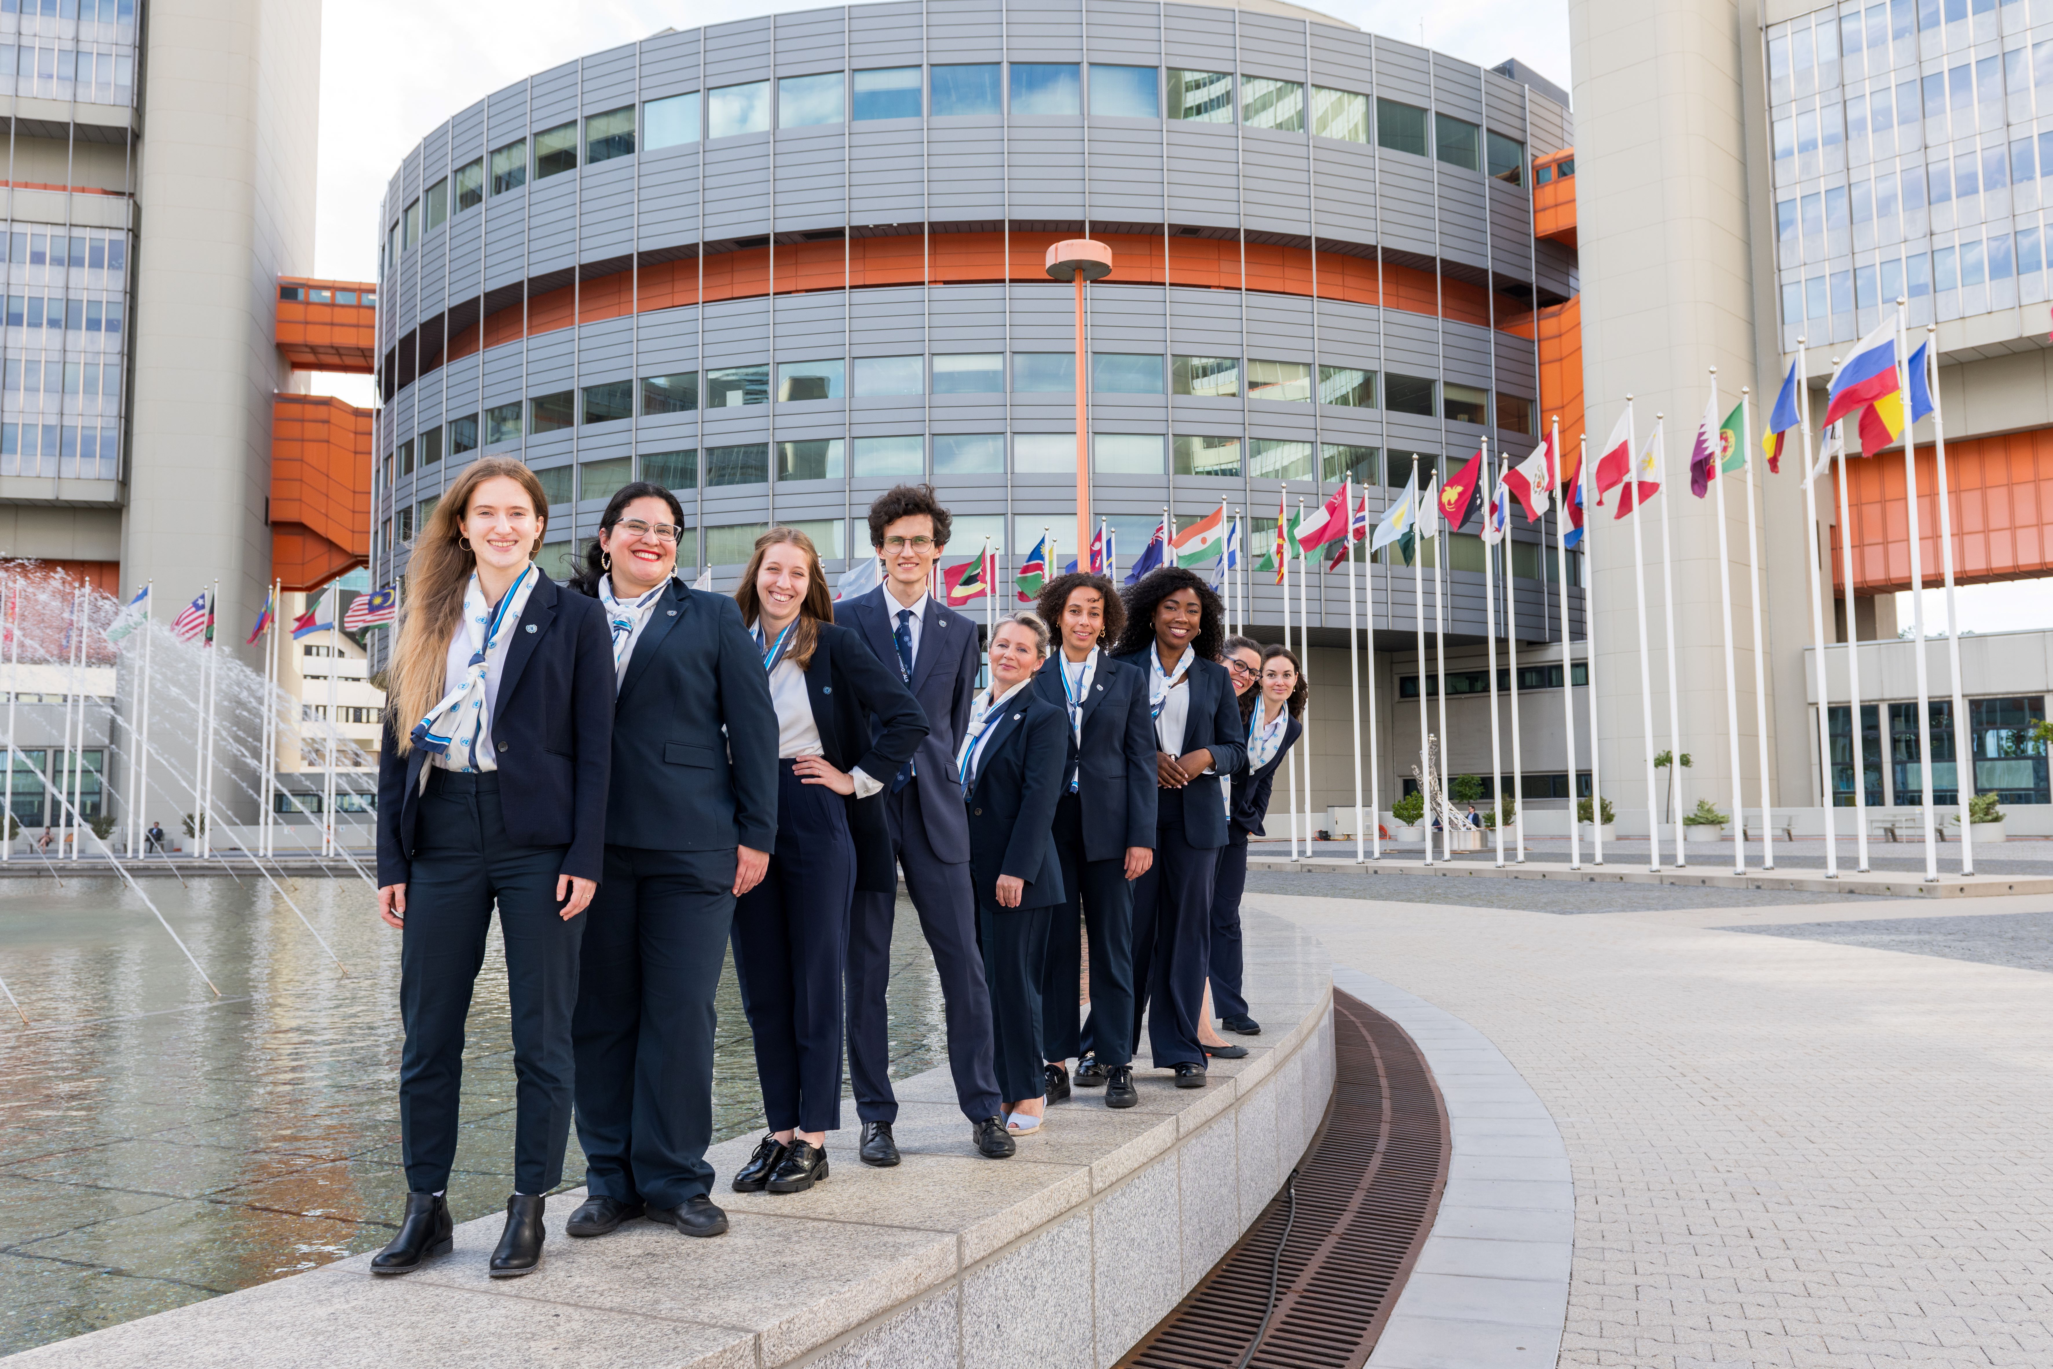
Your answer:
[[[620,677],[606,842],[776,850],[776,737],[764,659],[741,608],[669,581]]]

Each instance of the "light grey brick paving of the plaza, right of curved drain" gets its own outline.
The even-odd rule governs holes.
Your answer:
[[[1788,936],[1807,907],[1766,913],[1776,936],[1248,907],[1468,1020],[1550,1108],[1575,1180],[1560,1365],[2053,1365],[2049,975]]]

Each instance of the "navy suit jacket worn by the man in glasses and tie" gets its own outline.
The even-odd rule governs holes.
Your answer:
[[[885,665],[899,669],[897,628],[899,601],[883,585],[834,608],[836,622],[854,628],[864,644]],[[955,774],[955,751],[969,731],[969,706],[977,698],[977,624],[963,614],[951,614],[934,595],[926,597],[920,616],[920,653],[912,661],[912,696],[926,714],[926,739],[914,751],[914,784],[920,786],[920,813],[926,819],[926,844],[948,864],[969,860],[969,827],[963,821],[963,784]],[[883,718],[875,720],[883,731]],[[891,782],[891,776],[877,776]]]

